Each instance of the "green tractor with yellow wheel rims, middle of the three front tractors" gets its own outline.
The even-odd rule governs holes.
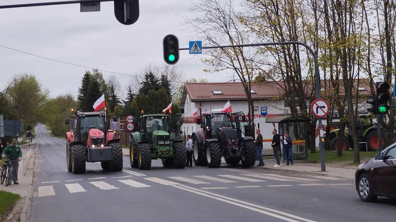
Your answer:
[[[185,168],[187,151],[183,140],[169,130],[169,116],[149,114],[140,117],[139,131],[131,133],[129,162],[132,168],[150,170],[151,160],[162,159],[165,167]]]

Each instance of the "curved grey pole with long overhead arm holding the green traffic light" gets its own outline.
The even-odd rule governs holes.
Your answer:
[[[266,46],[266,45],[302,45],[303,47],[307,48],[309,52],[312,54],[312,57],[314,58],[314,65],[315,65],[315,86],[316,86],[316,98],[320,99],[320,87],[319,87],[319,66],[318,66],[318,60],[316,58],[315,52],[309,47],[307,44],[302,43],[302,42],[277,42],[277,43],[256,43],[256,44],[242,44],[242,45],[221,45],[221,46],[208,46],[208,47],[202,47],[202,49],[223,49],[223,48],[235,48],[235,47],[255,47],[255,46]],[[188,48],[181,48],[179,50],[188,50]],[[320,168],[322,171],[326,171],[326,164],[325,164],[325,159],[324,159],[324,144],[322,142],[323,138],[323,124],[322,124],[322,118],[318,118],[319,120],[319,148],[320,148]]]

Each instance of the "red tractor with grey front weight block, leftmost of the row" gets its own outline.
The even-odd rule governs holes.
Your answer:
[[[120,139],[114,139],[114,130],[106,129],[105,110],[100,112],[74,113],[74,121],[65,119],[70,124],[66,133],[66,160],[69,172],[85,173],[86,162],[101,162],[103,170],[122,170],[122,147]],[[113,121],[118,118],[113,116]]]

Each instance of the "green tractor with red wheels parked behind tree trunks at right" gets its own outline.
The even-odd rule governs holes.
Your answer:
[[[377,130],[374,129],[373,119],[369,115],[360,115],[356,123],[356,129],[359,135],[360,151],[377,151],[378,150],[378,136]],[[337,136],[339,129],[330,131],[330,147],[332,150],[337,150]],[[353,140],[348,128],[345,128],[342,149],[353,149]]]

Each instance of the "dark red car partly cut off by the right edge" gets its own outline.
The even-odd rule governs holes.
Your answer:
[[[396,198],[396,143],[360,164],[355,181],[362,201],[372,202],[378,196]]]

